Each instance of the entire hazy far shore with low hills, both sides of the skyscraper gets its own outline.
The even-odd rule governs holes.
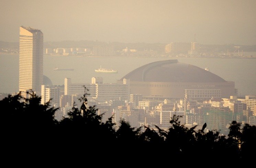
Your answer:
[[[9,43],[3,45],[3,48],[0,48],[0,54],[19,53],[19,45],[8,44]],[[53,56],[256,58],[255,46],[203,45],[197,42],[170,42],[169,44],[145,43],[137,45],[122,44],[123,46],[120,46],[120,44],[118,46],[115,44],[93,44],[89,44],[89,46],[85,47],[69,48],[49,48],[44,46],[43,53],[44,55]],[[47,44],[46,46],[49,45]],[[66,46],[68,46],[68,44],[66,44]],[[70,44],[70,46],[74,45]]]

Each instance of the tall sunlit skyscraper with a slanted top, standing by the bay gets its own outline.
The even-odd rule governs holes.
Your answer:
[[[20,26],[19,91],[26,97],[32,89],[41,95],[43,85],[43,33],[39,29]]]

